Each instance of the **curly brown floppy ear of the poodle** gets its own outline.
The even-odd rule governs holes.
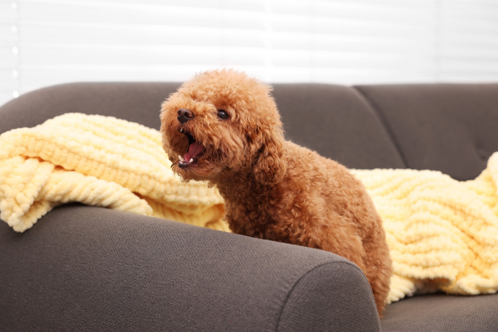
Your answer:
[[[284,138],[282,130],[266,133],[253,162],[253,173],[262,184],[272,185],[280,182],[287,169],[283,160]]]

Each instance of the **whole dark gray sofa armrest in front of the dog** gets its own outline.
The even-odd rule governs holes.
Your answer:
[[[2,222],[0,253],[5,331],[379,331],[360,269],[322,250],[70,204]]]

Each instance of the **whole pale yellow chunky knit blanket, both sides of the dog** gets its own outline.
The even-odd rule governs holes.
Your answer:
[[[467,182],[436,171],[353,172],[383,219],[394,269],[388,302],[497,291],[498,153]],[[155,129],[67,113],[1,134],[0,219],[24,231],[67,202],[229,231],[218,191],[176,178]]]

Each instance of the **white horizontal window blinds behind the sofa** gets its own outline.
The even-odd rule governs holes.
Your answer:
[[[0,104],[75,81],[498,80],[498,0],[0,0]]]

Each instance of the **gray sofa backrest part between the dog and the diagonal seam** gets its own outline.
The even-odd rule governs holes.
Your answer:
[[[355,89],[277,84],[273,96],[287,139],[350,168],[405,167],[379,118]]]

